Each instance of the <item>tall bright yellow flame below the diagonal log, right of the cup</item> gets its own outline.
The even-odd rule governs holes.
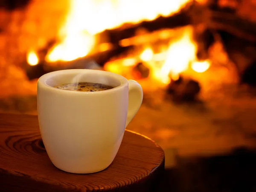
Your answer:
[[[145,58],[147,56],[149,59],[151,52],[152,49],[145,49],[140,58],[143,57],[143,61],[149,61]],[[161,67],[157,67],[154,62],[150,62],[152,78],[161,81],[163,84],[170,82],[170,76],[172,79],[178,79],[179,74],[188,68],[190,62],[195,60],[195,52],[196,46],[192,41],[192,27],[186,27],[179,38],[170,42],[166,52],[151,56],[155,61],[160,59],[163,61]]]

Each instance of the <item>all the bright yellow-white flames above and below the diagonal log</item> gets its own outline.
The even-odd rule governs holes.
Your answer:
[[[48,63],[72,61],[89,55],[96,47],[104,51],[109,44],[103,47],[96,45],[97,33],[125,23],[140,23],[173,15],[189,2],[191,0],[70,0],[69,14],[58,33],[59,43],[49,50],[45,60]],[[162,36],[166,35],[168,32],[162,30]],[[177,79],[189,67],[202,73],[210,67],[210,62],[197,61],[197,46],[192,36],[193,27],[184,27],[176,38],[166,40],[169,44],[162,51],[155,52],[154,46],[157,45],[149,44],[141,52],[134,51],[126,58],[109,61],[104,69],[126,76],[131,68],[142,62],[150,70],[148,78],[162,84]],[[154,38],[157,39],[157,35]],[[129,43],[129,40],[125,39],[125,42]],[[124,42],[120,41],[119,44],[122,46]],[[38,64],[35,52],[29,52],[27,60],[30,65]]]

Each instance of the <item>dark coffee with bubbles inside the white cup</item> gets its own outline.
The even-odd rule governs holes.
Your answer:
[[[67,84],[57,85],[55,86],[55,88],[63,89],[63,90],[84,91],[84,92],[113,89],[113,87],[105,84],[89,83],[89,82],[67,83]]]

